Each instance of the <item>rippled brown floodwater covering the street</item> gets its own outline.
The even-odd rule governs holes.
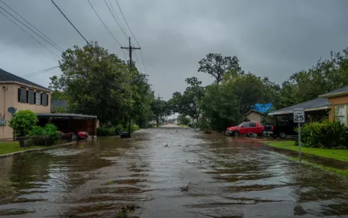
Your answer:
[[[118,217],[129,205],[129,217],[348,216],[348,179],[253,139],[192,129],[132,137],[0,159],[0,216]]]

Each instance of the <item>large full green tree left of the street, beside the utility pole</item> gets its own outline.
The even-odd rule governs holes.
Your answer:
[[[63,74],[51,79],[51,87],[62,91],[73,113],[98,116],[101,125],[127,125],[127,118],[144,120],[152,104],[152,91],[145,75],[98,45],[73,46],[59,61]]]

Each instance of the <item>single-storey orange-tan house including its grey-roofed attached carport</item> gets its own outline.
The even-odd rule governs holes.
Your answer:
[[[292,119],[293,109],[304,109],[307,122],[329,117],[330,120],[336,118],[348,126],[348,86],[330,91],[318,97],[291,107],[273,111],[269,115],[273,115],[275,118],[287,116],[289,119]],[[276,121],[277,119],[275,119]]]

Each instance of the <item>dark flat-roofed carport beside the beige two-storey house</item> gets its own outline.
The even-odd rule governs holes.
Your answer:
[[[97,116],[76,113],[37,113],[39,125],[54,124],[59,131],[86,131],[92,138],[97,135]]]

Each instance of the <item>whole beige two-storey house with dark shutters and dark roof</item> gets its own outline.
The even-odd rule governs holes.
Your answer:
[[[12,128],[8,126],[12,116],[10,107],[17,111],[51,113],[51,89],[0,69],[0,90],[0,139],[13,138]]]

